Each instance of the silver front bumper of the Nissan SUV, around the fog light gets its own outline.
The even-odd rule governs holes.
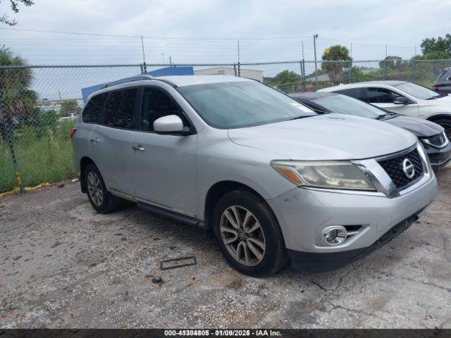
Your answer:
[[[431,173],[426,182],[391,199],[377,192],[295,188],[267,202],[276,214],[292,259],[314,266],[318,262],[311,260],[313,256],[327,254],[327,260],[342,261],[341,255],[354,257],[359,251],[372,251],[371,246],[384,242],[380,239],[385,233],[419,215],[436,194],[437,182]],[[332,225],[361,226],[361,231],[338,246],[325,246],[319,240],[321,232]]]

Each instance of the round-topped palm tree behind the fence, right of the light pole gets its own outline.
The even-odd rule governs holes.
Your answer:
[[[352,61],[350,51],[345,46],[335,44],[324,49],[322,59],[324,62],[321,64],[321,69],[327,71],[330,82],[339,84],[345,80],[345,71],[343,68],[350,68]]]

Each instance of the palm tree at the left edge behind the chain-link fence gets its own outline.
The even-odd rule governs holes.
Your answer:
[[[1,68],[20,66],[27,63],[6,46],[0,47],[0,90],[3,108],[0,111],[0,130],[5,136],[6,127],[11,130],[18,121],[34,113],[37,93],[30,89],[32,71],[30,68]]]

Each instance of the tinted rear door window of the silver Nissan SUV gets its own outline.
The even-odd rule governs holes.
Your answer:
[[[133,108],[135,106],[136,92],[136,88],[131,88],[110,93],[105,106],[105,125],[133,129]]]

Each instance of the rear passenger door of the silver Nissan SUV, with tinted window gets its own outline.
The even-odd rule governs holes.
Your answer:
[[[134,112],[137,87],[117,89],[109,93],[102,122],[93,130],[92,160],[104,178],[107,189],[133,195],[130,171],[131,131],[135,129]]]

